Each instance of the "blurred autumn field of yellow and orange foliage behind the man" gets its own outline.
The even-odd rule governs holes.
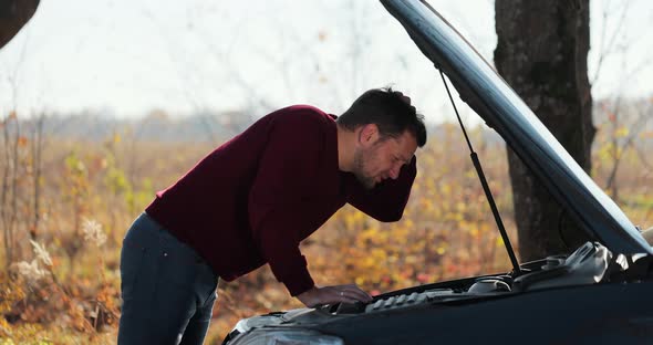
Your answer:
[[[653,227],[645,155],[653,133],[640,130],[628,144],[628,127],[610,118],[597,126],[594,180],[635,224]],[[0,144],[0,344],[115,343],[126,229],[156,190],[217,143],[143,140],[128,128],[96,140],[8,133]],[[355,282],[377,294],[510,269],[459,128],[432,133],[401,221],[345,207],[302,243],[318,284]],[[505,145],[489,129],[470,136],[519,251]],[[218,295],[207,344],[219,344],[241,317],[301,306],[267,266],[220,282]]]

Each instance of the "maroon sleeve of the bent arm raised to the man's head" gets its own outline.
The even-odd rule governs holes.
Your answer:
[[[348,202],[380,221],[397,221],[404,215],[417,175],[417,157],[403,166],[400,176],[365,189],[355,177],[348,181]]]

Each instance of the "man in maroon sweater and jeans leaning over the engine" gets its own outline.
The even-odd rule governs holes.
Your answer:
[[[296,105],[273,112],[157,192],[123,242],[120,344],[200,344],[218,278],[268,263],[307,306],[369,302],[355,284],[319,288],[299,243],[345,202],[398,220],[416,174],[423,117],[391,88],[340,117]]]

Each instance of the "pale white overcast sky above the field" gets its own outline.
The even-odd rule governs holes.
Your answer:
[[[429,2],[491,62],[494,1]],[[614,36],[594,97],[653,94],[653,1],[591,3],[590,77],[602,30]],[[23,114],[177,116],[297,103],[339,113],[388,83],[440,119],[436,71],[377,1],[41,0],[0,50],[0,111]]]

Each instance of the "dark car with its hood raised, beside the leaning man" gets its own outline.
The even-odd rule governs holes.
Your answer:
[[[435,10],[381,2],[592,241],[506,274],[246,318],[225,343],[653,344],[653,250],[639,230]]]

